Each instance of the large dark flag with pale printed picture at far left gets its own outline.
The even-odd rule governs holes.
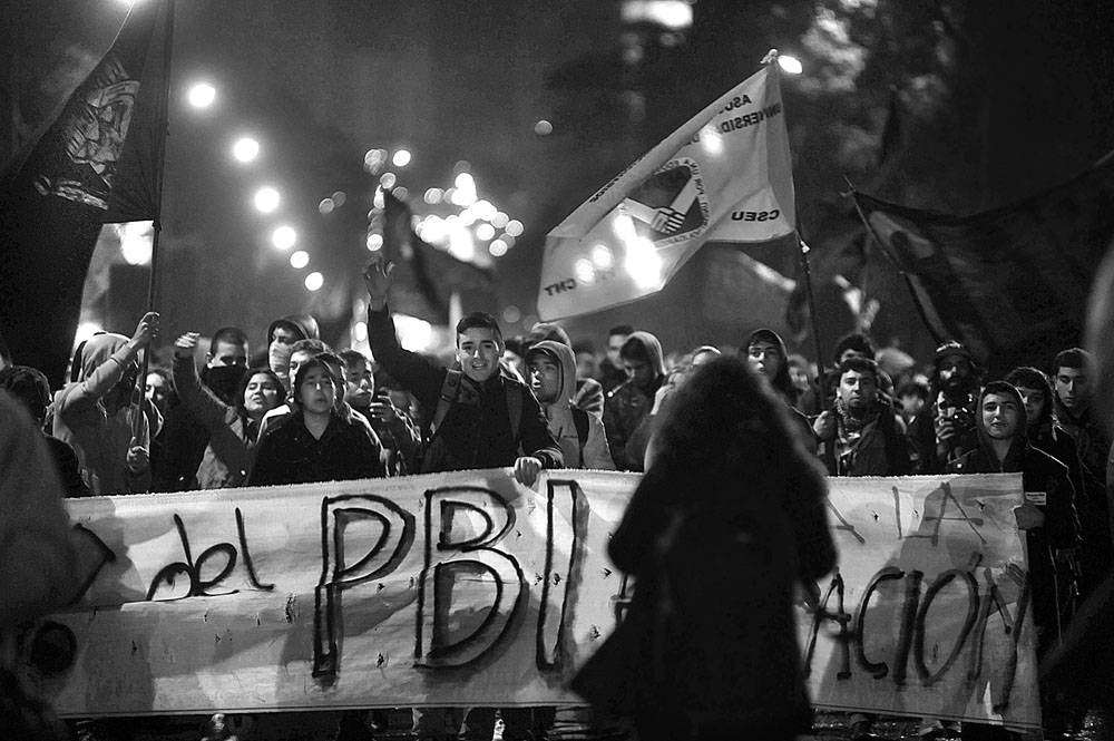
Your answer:
[[[172,13],[168,2],[135,3],[111,48],[0,185],[0,334],[16,362],[55,386],[101,224],[158,214]]]

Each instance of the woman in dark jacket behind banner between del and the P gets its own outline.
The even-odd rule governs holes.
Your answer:
[[[383,475],[379,446],[336,409],[344,381],[321,358],[301,365],[291,382],[293,413],[256,447],[250,486],[342,481]]]

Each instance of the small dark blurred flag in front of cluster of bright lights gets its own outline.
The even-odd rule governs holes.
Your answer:
[[[391,310],[444,325],[451,295],[490,292],[491,274],[422,241],[410,216],[405,203],[383,192],[383,253],[394,263]]]

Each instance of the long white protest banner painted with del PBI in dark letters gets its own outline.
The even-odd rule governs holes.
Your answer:
[[[69,715],[577,703],[565,685],[631,596],[606,543],[637,481],[531,489],[498,469],[69,500],[85,591],[23,645]],[[1020,476],[830,481],[839,572],[821,612],[797,607],[813,701],[1038,724]]]

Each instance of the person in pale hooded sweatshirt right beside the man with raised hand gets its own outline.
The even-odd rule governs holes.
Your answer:
[[[576,396],[576,357],[571,348],[554,340],[535,343],[526,352],[527,379],[549,432],[560,446],[566,468],[614,470],[604,423],[571,404]]]

